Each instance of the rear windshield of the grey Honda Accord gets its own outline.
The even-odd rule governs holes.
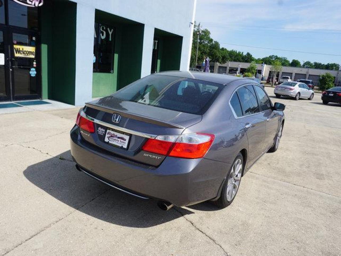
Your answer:
[[[222,90],[222,84],[168,75],[149,75],[113,96],[126,101],[191,114],[203,114]]]

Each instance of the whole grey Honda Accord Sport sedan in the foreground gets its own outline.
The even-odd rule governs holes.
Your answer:
[[[86,103],[71,154],[79,171],[164,210],[226,207],[257,159],[277,150],[284,108],[252,80],[157,73]]]

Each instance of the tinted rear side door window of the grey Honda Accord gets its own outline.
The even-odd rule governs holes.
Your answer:
[[[251,87],[251,89],[250,89]],[[243,86],[237,90],[243,115],[259,112],[258,102],[252,86]]]

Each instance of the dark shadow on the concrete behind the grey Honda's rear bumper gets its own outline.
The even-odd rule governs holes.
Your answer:
[[[26,168],[35,186],[77,211],[116,225],[147,228],[193,212],[182,208],[163,211],[155,200],[140,199],[92,179],[75,168],[70,151]],[[49,200],[48,200],[49,201]],[[46,207],[48,207],[48,201]]]

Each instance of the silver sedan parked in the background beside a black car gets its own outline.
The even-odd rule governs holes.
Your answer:
[[[301,98],[312,100],[314,98],[314,91],[306,84],[299,82],[284,82],[275,87],[274,93],[277,98],[281,98],[281,96],[292,97],[295,100]]]

